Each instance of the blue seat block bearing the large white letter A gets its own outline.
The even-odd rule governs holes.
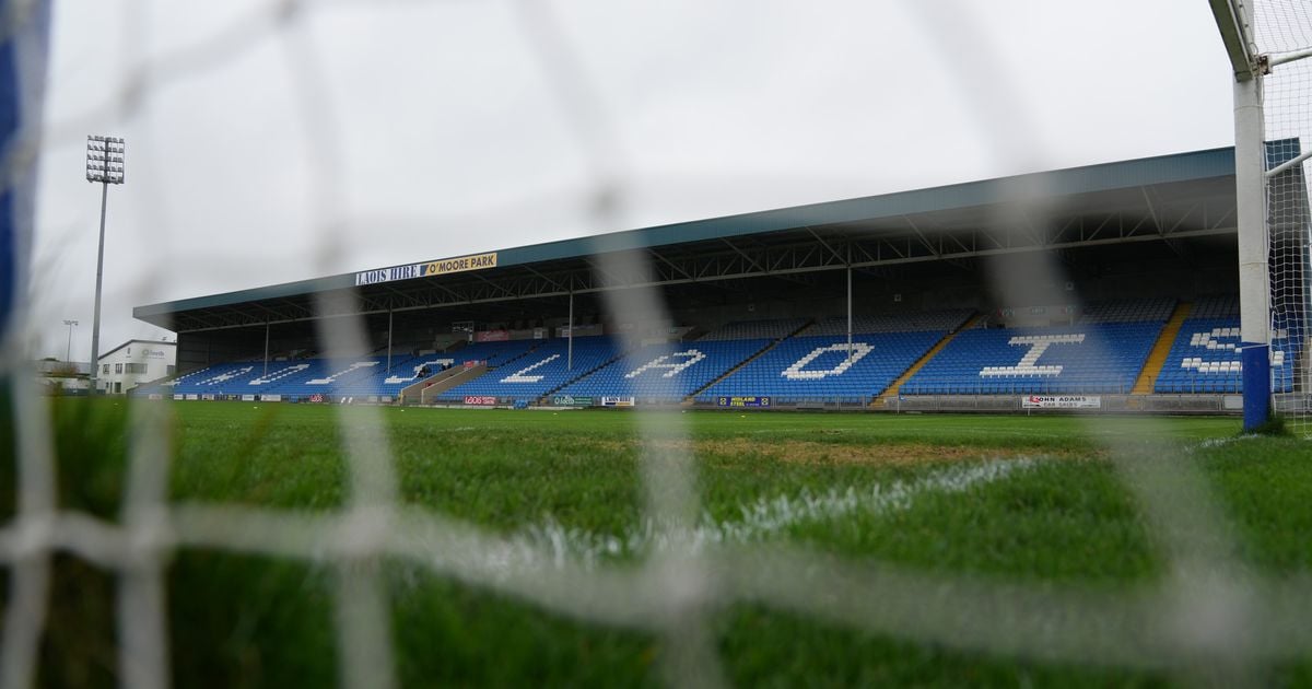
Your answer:
[[[560,394],[678,402],[769,345],[770,340],[761,339],[647,345],[564,387]]]

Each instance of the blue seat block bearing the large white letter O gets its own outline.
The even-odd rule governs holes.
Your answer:
[[[934,345],[945,332],[879,332],[845,337],[799,336],[781,341],[732,375],[697,395],[715,403],[720,396],[764,395],[774,403],[865,403]]]

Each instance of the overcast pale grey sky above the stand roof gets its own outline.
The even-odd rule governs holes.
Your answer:
[[[529,1],[56,3],[35,353],[91,352],[87,134],[127,139],[102,352],[143,303],[1233,142],[1203,0]]]

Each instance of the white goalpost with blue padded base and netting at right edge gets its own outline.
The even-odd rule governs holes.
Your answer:
[[[1211,0],[1235,77],[1244,429],[1278,413],[1309,424],[1308,186],[1312,10],[1291,0]],[[1274,407],[1273,407],[1274,402]]]

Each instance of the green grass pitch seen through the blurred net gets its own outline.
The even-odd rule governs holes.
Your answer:
[[[118,518],[126,402],[56,400],[60,505]],[[348,499],[333,407],[177,403],[176,501],[331,511]],[[8,416],[8,409],[0,409]],[[623,566],[643,558],[635,415],[606,411],[383,408],[407,503],[508,537],[569,534],[571,555]],[[1235,419],[893,416],[687,412],[705,511],[699,525],[748,542],[1021,584],[1117,589],[1162,575],[1144,516],[1102,440],[1190,448],[1260,572],[1312,568],[1312,446],[1233,438]],[[0,517],[14,505],[4,429]],[[657,442],[676,442],[657,440]],[[1023,463],[993,480],[934,488],[935,476]],[[907,504],[829,504],[895,483],[929,486]],[[807,507],[806,497],[819,497]],[[841,503],[841,504],[840,504]],[[821,504],[815,508],[815,504]],[[825,507],[828,505],[828,507]],[[607,550],[605,543],[618,543]],[[614,562],[610,562],[614,560]],[[60,555],[42,644],[43,686],[117,680],[114,577]],[[384,567],[403,686],[661,685],[660,638],[547,613],[401,562]],[[0,570],[0,579],[8,574]],[[176,686],[337,684],[331,571],[300,560],[184,549],[168,567]],[[1177,677],[1043,663],[854,631],[766,604],[710,622],[727,679],[795,685],[1158,685]],[[1262,680],[1312,686],[1312,663]]]

